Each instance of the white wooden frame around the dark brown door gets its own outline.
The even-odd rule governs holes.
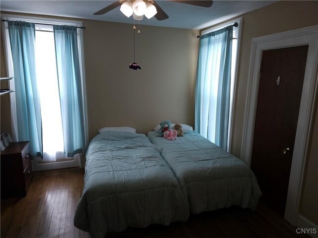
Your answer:
[[[284,218],[296,226],[318,83],[318,25],[252,39],[240,159],[250,166],[262,52],[309,45]]]

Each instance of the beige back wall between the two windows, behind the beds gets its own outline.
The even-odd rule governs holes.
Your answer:
[[[194,125],[195,30],[84,21],[89,139],[104,126],[147,133],[164,119]]]

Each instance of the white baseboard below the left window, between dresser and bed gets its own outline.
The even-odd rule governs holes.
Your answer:
[[[41,163],[39,160],[31,160],[32,163],[32,171],[43,171],[43,170],[57,170],[57,169],[65,169],[72,167],[81,167],[81,158],[82,156],[75,156],[72,160],[69,161],[59,161],[59,162],[51,162],[51,163]]]

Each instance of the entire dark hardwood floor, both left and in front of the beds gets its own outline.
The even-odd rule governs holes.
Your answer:
[[[88,238],[73,225],[83,169],[34,173],[24,198],[1,200],[1,238]],[[259,203],[255,211],[232,207],[191,216],[185,223],[109,233],[107,238],[299,238],[296,228]]]

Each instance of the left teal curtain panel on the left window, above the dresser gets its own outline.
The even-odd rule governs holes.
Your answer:
[[[40,98],[35,70],[35,25],[7,21],[13,60],[18,141],[30,141],[30,155],[42,154]]]

